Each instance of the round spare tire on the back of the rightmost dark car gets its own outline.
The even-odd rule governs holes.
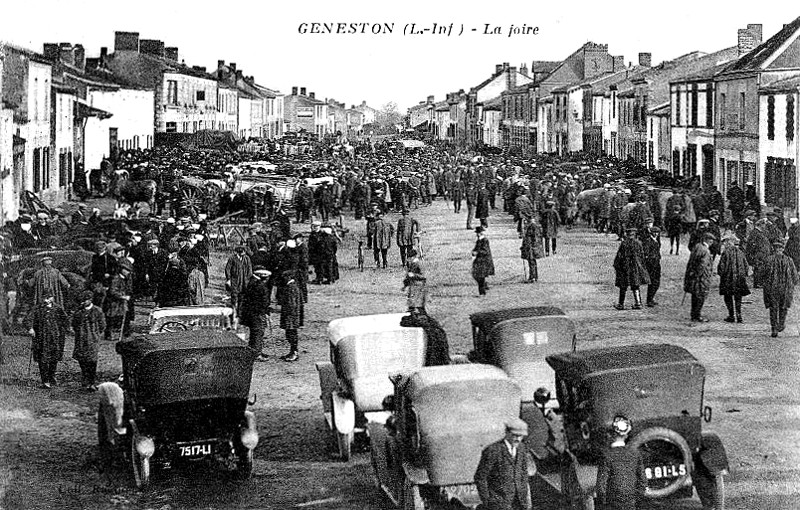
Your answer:
[[[651,427],[636,434],[628,446],[642,454],[647,473],[645,496],[667,497],[686,484],[692,474],[692,452],[686,439],[674,430]]]

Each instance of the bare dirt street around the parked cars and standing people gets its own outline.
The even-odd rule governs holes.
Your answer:
[[[447,330],[452,351],[465,354],[470,348],[470,313],[522,305],[564,309],[577,322],[579,348],[639,342],[686,347],[707,369],[705,398],[713,408],[713,420],[704,429],[721,436],[731,462],[727,508],[800,508],[800,306],[790,311],[786,332],[772,339],[760,290],[744,305],[744,324],[736,325],[722,322],[724,304],[714,288],[705,310],[712,321],[689,322],[689,300],[681,306],[688,258],[684,244],[679,256],[668,255],[666,246],[662,249],[659,305],[617,311],[612,308],[616,289],[611,267],[616,237],[583,226],[561,231],[558,254],[541,259],[539,282],[525,285],[520,241],[510,217],[500,210],[492,211],[488,230],[497,275],[489,279],[488,296],[480,298],[470,277],[475,236],[464,228],[465,214],[455,215],[441,200],[411,212],[424,231],[428,310]],[[389,216],[392,221],[397,217]],[[328,358],[327,323],[338,317],[405,309],[396,248],[390,251],[389,269],[376,269],[368,253],[366,269],[359,272],[355,248],[364,223],[346,221],[350,232],[339,249],[341,280],[310,286],[300,362],[277,359],[287,347],[273,317],[266,349],[272,359],[256,365],[252,385],[258,395],[254,409],[261,435],[252,480],[236,483],[216,471],[198,469],[158,477],[150,490],[140,492],[131,488],[128,466],[99,472],[96,396],[79,391],[80,371],[70,359],[71,339],[65,362],[59,365],[59,385],[46,391],[38,388],[35,366],[28,374],[29,338],[11,337],[4,340],[7,359],[0,388],[2,507],[391,508],[373,484],[368,453],[357,453],[349,463],[333,457],[319,400],[314,362]],[[213,298],[222,294],[225,257],[215,256],[209,289]],[[141,325],[147,308],[140,306],[138,311]],[[119,359],[110,342],[102,345],[100,371],[102,380],[119,374]],[[677,508],[699,509],[700,503],[694,499]]]

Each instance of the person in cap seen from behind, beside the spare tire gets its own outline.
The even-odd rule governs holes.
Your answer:
[[[627,418],[614,417],[611,446],[597,471],[597,498],[603,508],[636,510],[644,497],[647,477],[642,456],[638,449],[625,445],[630,431],[631,422]]]

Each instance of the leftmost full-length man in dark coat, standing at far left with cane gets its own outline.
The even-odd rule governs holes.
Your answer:
[[[64,338],[69,330],[69,317],[55,303],[52,293],[47,293],[25,318],[24,324],[33,337],[31,351],[33,360],[39,364],[42,387],[49,389],[56,383],[56,367],[64,357]]]

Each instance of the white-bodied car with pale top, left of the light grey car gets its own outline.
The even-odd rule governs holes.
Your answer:
[[[382,404],[393,391],[388,374],[425,362],[425,333],[400,326],[405,315],[361,315],[328,325],[331,361],[316,366],[325,421],[344,460],[350,459],[356,432],[365,432],[369,421],[383,423],[388,417]]]

